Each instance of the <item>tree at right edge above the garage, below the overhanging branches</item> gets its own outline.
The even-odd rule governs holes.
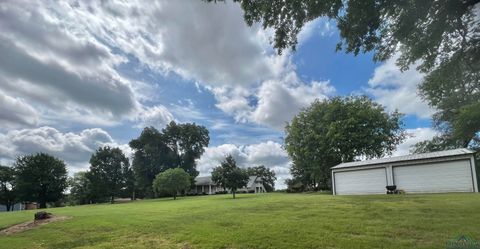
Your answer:
[[[479,50],[480,51],[480,50]],[[443,143],[470,147],[480,143],[480,61],[469,65],[477,75],[462,78],[465,65],[441,65],[427,75],[419,86],[421,96],[437,112],[434,127],[441,133]]]

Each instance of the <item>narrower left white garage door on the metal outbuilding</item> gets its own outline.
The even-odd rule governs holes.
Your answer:
[[[385,168],[335,172],[337,195],[385,194]]]

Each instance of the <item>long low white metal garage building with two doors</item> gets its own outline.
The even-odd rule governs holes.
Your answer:
[[[395,185],[405,193],[478,192],[474,151],[455,149],[332,167],[334,195],[385,194]]]

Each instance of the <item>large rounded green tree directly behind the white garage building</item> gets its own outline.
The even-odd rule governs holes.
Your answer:
[[[315,101],[285,128],[292,176],[312,190],[330,189],[332,166],[396,149],[405,138],[401,117],[365,96]]]

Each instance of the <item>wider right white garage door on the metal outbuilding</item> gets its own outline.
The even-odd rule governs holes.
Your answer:
[[[407,193],[473,192],[467,160],[393,167],[393,177]]]

